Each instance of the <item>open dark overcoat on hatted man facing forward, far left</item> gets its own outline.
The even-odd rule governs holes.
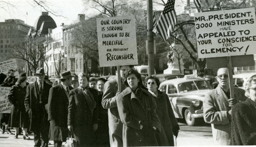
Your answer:
[[[27,87],[27,94],[24,100],[26,112],[29,114],[31,123],[30,123],[30,131],[39,130],[40,119],[43,119],[44,126],[49,127],[50,123],[48,122],[48,97],[49,91],[52,86],[47,84],[46,82],[43,83],[43,98],[42,104],[43,110],[39,109],[39,91],[38,91],[38,84],[35,81],[32,84],[29,84]],[[43,118],[38,118],[40,114]]]

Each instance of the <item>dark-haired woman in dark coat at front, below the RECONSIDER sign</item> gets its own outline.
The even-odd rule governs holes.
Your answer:
[[[124,147],[158,146],[156,133],[161,131],[161,127],[155,99],[141,88],[141,75],[135,69],[124,73],[123,83],[128,87],[116,100],[123,123]]]

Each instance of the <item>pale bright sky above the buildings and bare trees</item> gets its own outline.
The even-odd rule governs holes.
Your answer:
[[[183,0],[176,0],[175,5],[177,5],[179,1]],[[54,19],[57,26],[60,26],[62,23],[64,23],[64,25],[72,24],[77,19],[78,14],[90,16],[90,14],[98,13],[96,9],[85,11],[82,0],[47,0],[46,2],[49,3],[49,7],[56,12],[55,14],[60,15],[54,16],[51,13],[48,14]],[[158,7],[157,9],[162,10],[163,7]],[[175,9],[177,13],[179,8],[175,7]],[[25,24],[33,26],[42,11],[45,10],[33,0],[0,1],[0,22],[4,22],[6,19],[20,19],[23,20]]]

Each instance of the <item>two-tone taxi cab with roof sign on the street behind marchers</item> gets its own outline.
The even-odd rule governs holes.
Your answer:
[[[212,87],[204,78],[190,74],[162,82],[159,90],[168,95],[175,117],[194,125],[203,118],[203,98]]]

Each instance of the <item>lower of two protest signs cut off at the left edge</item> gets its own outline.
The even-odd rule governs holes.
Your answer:
[[[0,87],[0,113],[11,113],[11,103],[7,98],[7,94],[11,87]]]

